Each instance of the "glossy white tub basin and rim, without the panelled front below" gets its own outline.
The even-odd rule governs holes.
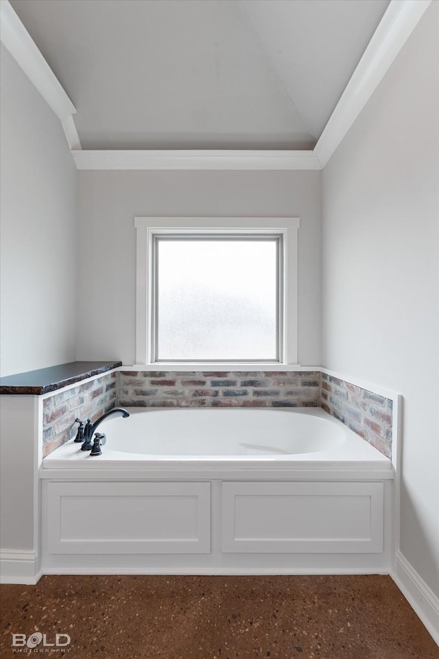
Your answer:
[[[99,426],[102,455],[73,440],[43,460],[43,468],[99,468],[195,462],[298,464],[331,462],[390,468],[390,461],[344,424],[318,408],[128,408]]]

